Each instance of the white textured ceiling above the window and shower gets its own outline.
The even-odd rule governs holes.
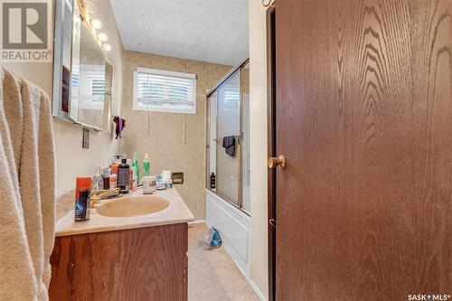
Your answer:
[[[249,55],[248,0],[110,0],[124,47],[235,65]]]

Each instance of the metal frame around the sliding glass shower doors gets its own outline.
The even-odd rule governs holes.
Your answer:
[[[239,64],[235,65],[231,71],[226,73],[226,75],[221,78],[213,87],[212,89],[208,90],[208,92],[205,95],[206,99],[206,165],[205,165],[205,174],[206,174],[206,182],[205,187],[208,189],[211,193],[217,195],[222,200],[231,203],[232,206],[236,207],[240,210],[240,212],[245,213],[246,215],[250,216],[250,212],[247,212],[243,210],[243,154],[242,154],[242,141],[243,141],[243,88],[241,84],[241,69],[246,66],[250,62],[250,57],[247,57],[246,59],[240,61]],[[211,101],[210,97],[217,92],[217,89],[221,87],[221,84],[224,83],[226,80],[229,80],[231,76],[236,72],[239,71],[239,115],[240,115],[240,138],[239,138],[239,155],[240,155],[240,169],[239,169],[239,202],[235,203],[233,202],[228,196],[217,192],[216,190],[212,190],[210,185],[210,171],[211,171],[211,154],[210,154],[210,147],[211,147],[211,139],[210,139],[210,128],[211,128]],[[217,93],[218,98],[218,93]],[[218,101],[218,100],[217,100]],[[217,115],[218,115],[218,102],[217,102]],[[215,142],[216,144],[220,143],[218,138],[218,118],[215,119],[216,127],[215,127]],[[216,165],[218,163],[218,152],[215,150],[215,174],[216,173]]]

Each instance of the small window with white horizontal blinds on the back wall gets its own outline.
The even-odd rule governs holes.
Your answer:
[[[134,72],[134,109],[196,114],[196,76],[138,68]]]

